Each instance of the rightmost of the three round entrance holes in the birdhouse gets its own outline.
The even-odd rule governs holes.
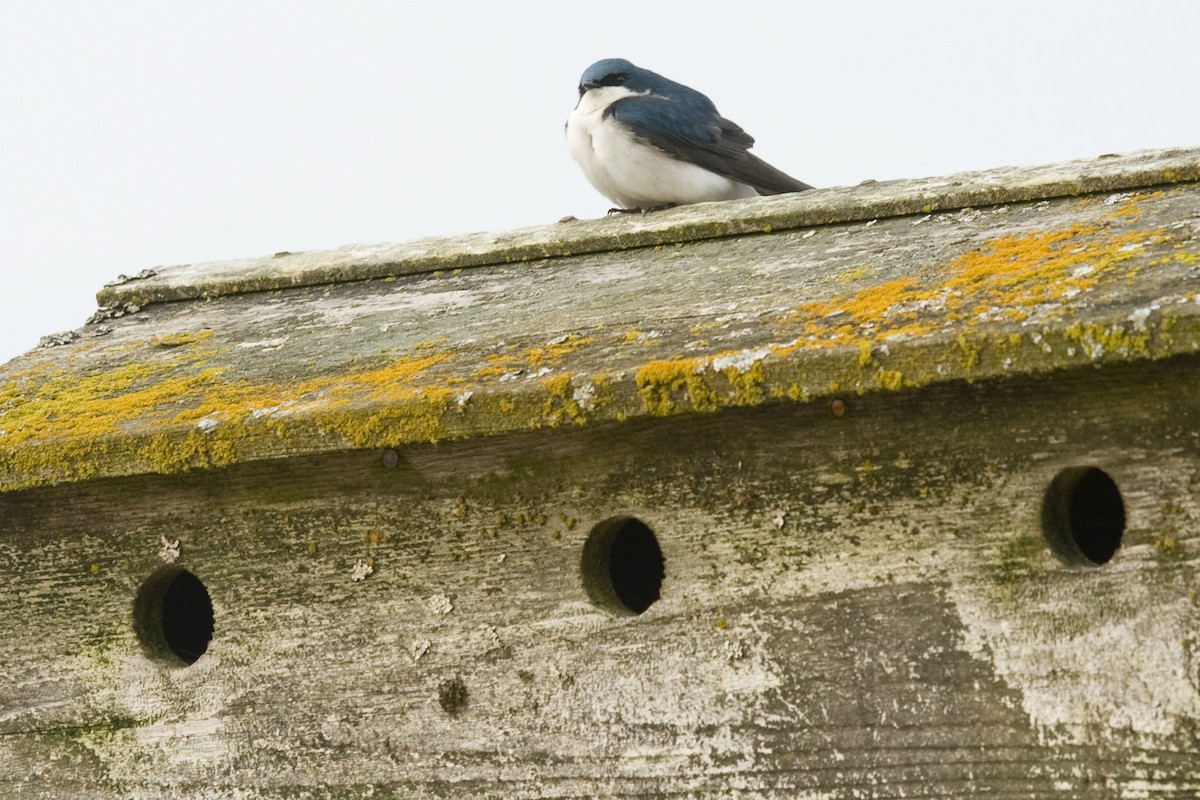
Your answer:
[[[1068,467],[1046,487],[1042,531],[1066,564],[1108,564],[1124,534],[1124,501],[1116,482],[1096,467]]]

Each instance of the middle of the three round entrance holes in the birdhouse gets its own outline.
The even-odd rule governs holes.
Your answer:
[[[636,517],[610,517],[593,528],[581,566],[592,602],[614,613],[641,614],[662,589],[662,549]]]

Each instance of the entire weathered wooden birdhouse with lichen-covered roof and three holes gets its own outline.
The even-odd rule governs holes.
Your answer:
[[[0,794],[1196,796],[1198,181],[106,287],[0,367]]]

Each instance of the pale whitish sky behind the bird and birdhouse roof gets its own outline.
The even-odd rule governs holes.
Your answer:
[[[563,143],[601,58],[816,186],[1200,145],[1190,0],[0,12],[0,362],[119,272],[602,215]]]

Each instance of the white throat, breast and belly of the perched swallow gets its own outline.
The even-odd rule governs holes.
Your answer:
[[[612,103],[637,92],[624,86],[589,89],[566,118],[566,146],[584,176],[624,209],[754,197],[745,184],[672,158],[605,119]]]

